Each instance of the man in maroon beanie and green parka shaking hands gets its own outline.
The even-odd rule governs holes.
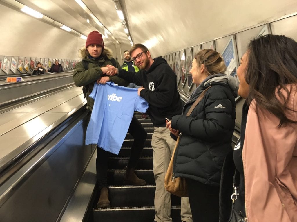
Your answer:
[[[105,84],[108,81],[112,81],[119,86],[128,86],[129,83],[117,76],[106,76],[106,73],[110,70],[107,65],[113,65],[116,68],[121,69],[119,62],[112,57],[112,51],[107,47],[104,47],[104,41],[102,35],[98,31],[92,31],[89,33],[86,46],[80,49],[81,62],[75,65],[73,71],[73,80],[76,86],[83,86],[83,93],[87,100],[87,106],[92,110],[94,106],[94,100],[89,97],[91,94],[94,83]],[[145,185],[146,181],[139,179],[135,173],[134,168],[141,155],[144,142],[146,140],[147,133],[140,122],[135,116],[133,116],[128,133],[134,137],[134,142],[131,146],[131,155],[127,170],[124,176],[125,185]],[[108,184],[107,184],[107,163],[109,152],[97,147],[97,184],[100,189],[100,198],[97,203],[98,207],[110,207],[108,200]]]

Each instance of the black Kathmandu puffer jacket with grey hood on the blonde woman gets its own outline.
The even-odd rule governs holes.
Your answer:
[[[208,86],[212,87],[187,117],[192,104]],[[182,133],[174,155],[175,177],[219,186],[225,156],[232,150],[237,90],[236,78],[211,75],[195,89],[183,108],[183,115],[172,118],[171,127]]]

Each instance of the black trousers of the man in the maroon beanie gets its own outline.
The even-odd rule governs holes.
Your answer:
[[[144,142],[146,141],[147,132],[138,121],[138,119],[133,116],[128,133],[133,136],[134,141],[131,146],[131,154],[129,158],[128,167],[134,168],[137,165],[138,159],[143,150]],[[107,187],[107,169],[108,169],[108,157],[110,152],[107,152],[99,147],[97,147],[97,158],[96,158],[96,170],[97,170],[97,183],[98,188]]]

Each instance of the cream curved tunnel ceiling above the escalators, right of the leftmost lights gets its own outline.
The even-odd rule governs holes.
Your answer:
[[[84,35],[94,29],[104,32],[75,0],[19,2]],[[112,0],[83,2],[120,44],[130,44]],[[120,0],[120,3],[133,43],[145,44],[154,56],[194,46],[297,12],[296,0]],[[110,36],[104,38],[104,41],[107,46],[116,44]]]

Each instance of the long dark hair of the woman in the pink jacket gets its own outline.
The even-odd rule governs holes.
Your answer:
[[[285,85],[297,83],[296,41],[283,35],[265,35],[253,39],[248,47],[245,79],[250,87],[248,103],[255,99],[260,109],[268,110],[279,118],[279,127],[297,123],[285,114],[291,110],[287,102],[292,92],[292,87]]]

